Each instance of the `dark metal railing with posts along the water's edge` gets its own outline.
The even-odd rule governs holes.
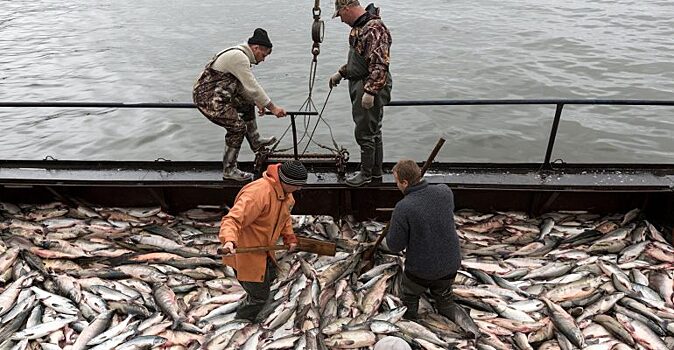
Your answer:
[[[498,105],[554,105],[555,117],[550,129],[545,159],[542,169],[552,169],[550,159],[557,137],[559,121],[565,105],[606,105],[606,106],[674,106],[674,100],[600,100],[600,99],[504,99],[504,100],[403,100],[391,101],[390,107],[424,107],[424,106],[498,106]],[[138,109],[193,109],[193,103],[121,103],[121,102],[2,102],[0,108],[138,108]],[[290,111],[293,128],[294,152],[297,157],[297,139],[295,131],[295,116],[315,116],[318,112]]]

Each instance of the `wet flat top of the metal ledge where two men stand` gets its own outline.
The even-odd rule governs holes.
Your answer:
[[[348,188],[330,165],[307,164],[310,175],[306,187]],[[355,170],[357,164],[349,164]],[[241,163],[252,170],[252,163]],[[385,165],[381,182],[365,188],[395,188]],[[663,165],[564,165],[541,171],[538,164],[433,164],[426,174],[431,183],[445,183],[461,189],[520,189],[549,191],[648,191],[668,192],[674,188],[674,168]],[[2,161],[0,184],[13,185],[95,185],[95,186],[206,186],[241,187],[223,181],[219,162],[83,162],[83,161]]]

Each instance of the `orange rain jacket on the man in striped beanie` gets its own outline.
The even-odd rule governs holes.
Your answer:
[[[220,242],[232,241],[236,248],[274,245],[283,235],[283,243],[297,243],[290,211],[295,204],[292,194],[285,194],[278,177],[280,164],[267,167],[261,179],[244,186],[234,206],[220,223]],[[273,254],[237,253],[222,258],[237,272],[237,279],[246,282],[264,281],[267,256]],[[274,260],[275,261],[275,260]]]

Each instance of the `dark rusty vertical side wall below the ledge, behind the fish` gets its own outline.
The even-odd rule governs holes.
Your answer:
[[[171,213],[198,205],[231,206],[237,187],[208,186],[0,186],[0,201],[13,203],[87,203],[100,206],[143,207],[160,205]],[[354,215],[359,220],[388,220],[402,194],[393,187],[358,189],[306,187],[295,193],[294,214],[333,217]],[[537,191],[454,188],[456,209],[481,212],[522,211],[539,215],[556,210],[625,213],[640,208],[653,222],[673,223],[674,193],[619,191]]]

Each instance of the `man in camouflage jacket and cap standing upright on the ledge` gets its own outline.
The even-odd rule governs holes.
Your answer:
[[[345,65],[330,77],[330,88],[349,80],[351,114],[360,146],[360,171],[346,179],[350,186],[362,186],[381,178],[384,146],[381,124],[384,105],[391,101],[389,59],[391,33],[379,17],[379,9],[363,8],[358,0],[336,0],[334,17],[351,26],[349,56]]]

